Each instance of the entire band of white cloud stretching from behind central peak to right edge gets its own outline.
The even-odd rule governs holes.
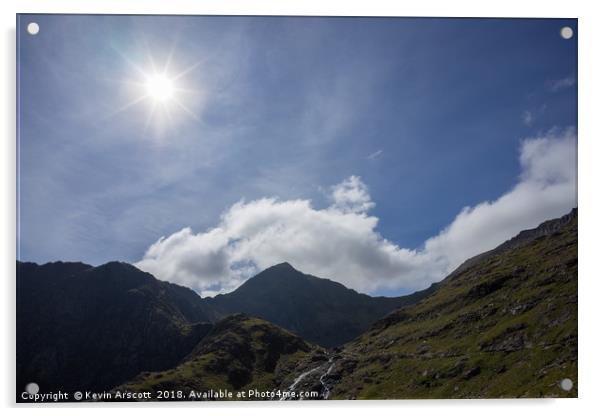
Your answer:
[[[202,295],[227,292],[279,262],[362,292],[415,290],[469,257],[576,206],[576,134],[551,131],[520,148],[518,183],[494,201],[464,208],[419,250],[376,230],[368,187],[351,176],[332,188],[332,205],[264,198],[240,201],[206,232],[184,228],[151,245],[136,265]]]

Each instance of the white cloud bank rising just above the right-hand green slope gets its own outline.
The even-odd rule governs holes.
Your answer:
[[[577,206],[577,147],[573,129],[524,140],[518,184],[495,201],[465,207],[425,253],[443,256],[450,272],[462,261],[561,216]]]

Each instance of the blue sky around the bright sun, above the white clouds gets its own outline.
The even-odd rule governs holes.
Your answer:
[[[576,20],[18,20],[21,260],[138,262],[163,236],[218,226],[241,200],[327,210],[351,177],[366,186],[373,231],[421,250],[464,207],[521,180],[525,140],[577,123],[576,36],[559,35]],[[170,76],[186,71],[174,81],[182,106],[169,118],[147,99],[128,106],[141,71],[166,62]],[[371,293],[423,286],[363,286],[337,270],[324,272]],[[233,287],[220,279],[198,290]]]

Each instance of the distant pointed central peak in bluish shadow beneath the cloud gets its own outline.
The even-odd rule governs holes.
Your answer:
[[[394,309],[418,302],[435,287],[410,296],[371,297],[282,263],[231,293],[205,300],[222,316],[239,312],[257,316],[309,342],[334,347],[360,335]]]

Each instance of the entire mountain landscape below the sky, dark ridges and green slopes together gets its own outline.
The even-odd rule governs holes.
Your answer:
[[[29,382],[263,393],[242,399],[576,397],[577,210],[399,298],[287,263],[201,299],[126,263],[17,262],[17,392]]]

